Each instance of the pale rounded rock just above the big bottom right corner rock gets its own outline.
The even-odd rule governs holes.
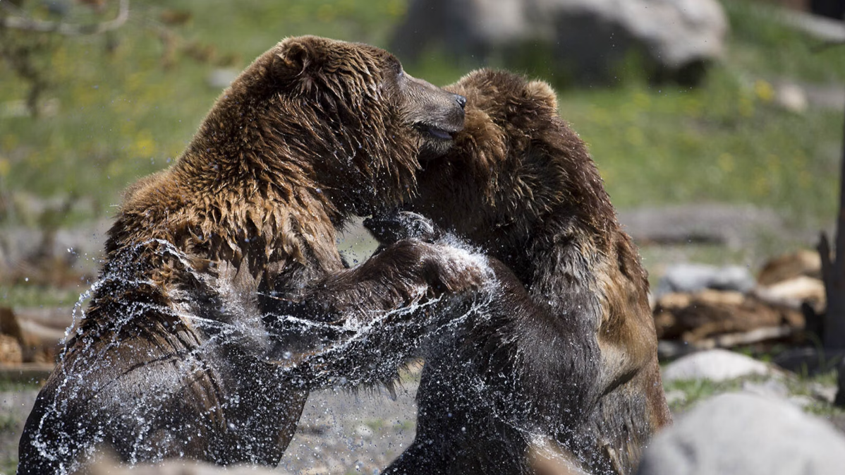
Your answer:
[[[663,369],[663,382],[676,379],[726,379],[752,374],[776,374],[770,365],[728,350],[715,349],[679,358]]]

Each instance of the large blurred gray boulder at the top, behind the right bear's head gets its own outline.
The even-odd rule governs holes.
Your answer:
[[[579,82],[613,80],[636,52],[653,78],[695,83],[727,30],[716,0],[413,0],[390,47],[403,61],[439,47]]]

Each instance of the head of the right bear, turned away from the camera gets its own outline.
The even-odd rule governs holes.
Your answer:
[[[488,250],[518,248],[552,216],[598,227],[615,219],[586,145],[559,117],[551,86],[480,69],[444,89],[466,96],[465,126],[449,153],[421,161],[406,210]]]

